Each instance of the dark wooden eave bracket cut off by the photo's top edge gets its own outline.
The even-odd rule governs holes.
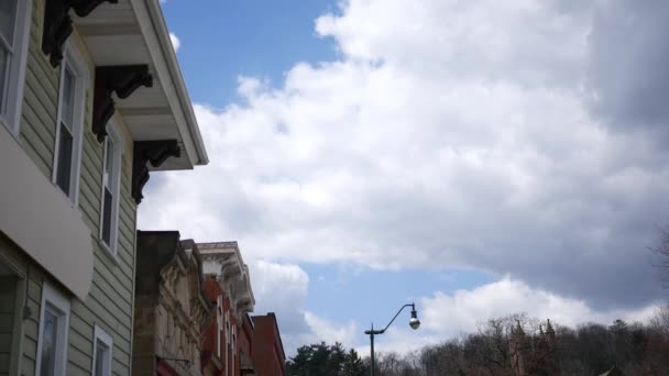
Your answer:
[[[105,1],[112,4],[119,2],[119,0],[46,0],[42,52],[48,55],[52,66],[57,67],[63,60],[63,45],[73,31],[69,10],[73,9],[78,16],[87,16]]]

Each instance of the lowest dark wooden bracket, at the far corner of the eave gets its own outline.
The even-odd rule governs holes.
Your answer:
[[[142,189],[149,181],[149,167],[160,167],[168,157],[179,157],[182,151],[176,140],[135,141],[132,156],[132,198],[136,204],[142,202]]]

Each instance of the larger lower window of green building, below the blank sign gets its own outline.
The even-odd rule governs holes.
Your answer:
[[[37,367],[35,375],[65,375],[68,331],[69,300],[44,283],[42,287]]]

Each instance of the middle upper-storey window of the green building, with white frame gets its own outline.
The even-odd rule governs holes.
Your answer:
[[[76,48],[67,43],[61,66],[53,183],[75,206],[79,190],[87,76],[86,67]]]

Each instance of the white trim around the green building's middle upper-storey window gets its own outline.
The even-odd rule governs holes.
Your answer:
[[[61,146],[61,107],[63,101],[63,85],[65,66],[68,65],[73,69],[75,76],[75,108],[73,114],[73,151],[74,151],[74,166],[70,170],[70,191],[68,199],[72,202],[73,208],[79,206],[79,180],[81,169],[81,146],[84,141],[84,128],[86,126],[84,117],[86,109],[86,90],[88,88],[88,67],[81,57],[81,54],[77,47],[69,40],[65,43],[63,62],[61,63],[61,80],[58,84],[58,110],[56,114],[56,136],[54,147],[54,164],[52,170],[52,184],[61,190],[56,185],[57,170],[58,170],[58,147]],[[65,193],[63,193],[65,195]]]

